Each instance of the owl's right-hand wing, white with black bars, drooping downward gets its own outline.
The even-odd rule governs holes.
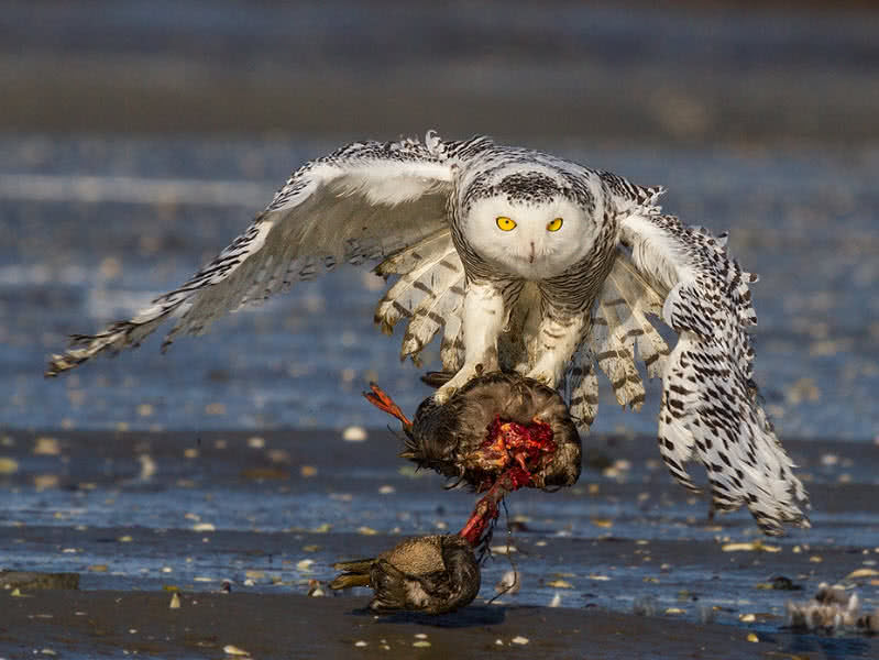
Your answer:
[[[656,300],[645,309],[661,314],[679,336],[668,355],[658,344],[639,346],[661,365],[658,440],[669,471],[697,490],[683,466],[696,458],[717,508],[747,506],[769,535],[783,534],[783,524],[809,527],[805,488],[751,377],[748,329],[757,317],[748,284],[756,277],[729,257],[725,237],[658,211],[624,218],[620,243],[617,258],[663,300],[661,309]]]

